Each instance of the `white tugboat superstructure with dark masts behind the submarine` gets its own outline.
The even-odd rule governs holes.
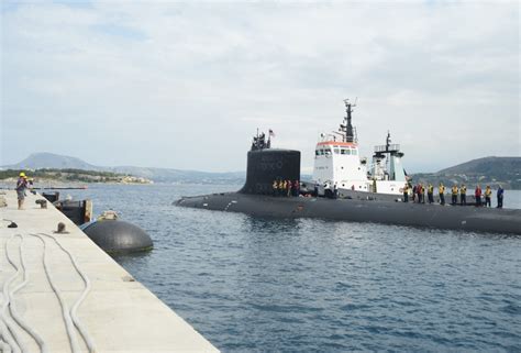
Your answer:
[[[386,144],[375,146],[372,164],[361,158],[356,130],[352,124],[355,104],[344,100],[346,115],[339,131],[321,134],[314,151],[313,181],[320,188],[337,188],[341,196],[352,191],[400,195],[406,185],[400,145],[391,144],[390,133]]]

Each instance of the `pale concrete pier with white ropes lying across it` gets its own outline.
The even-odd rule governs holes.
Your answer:
[[[0,196],[0,351],[218,352],[42,197]]]

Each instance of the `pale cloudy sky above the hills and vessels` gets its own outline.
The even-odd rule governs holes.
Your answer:
[[[521,156],[520,2],[2,1],[0,165],[235,172],[257,128],[301,151],[356,99],[362,155],[411,172]]]

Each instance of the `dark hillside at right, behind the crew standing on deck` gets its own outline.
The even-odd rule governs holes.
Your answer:
[[[417,173],[413,181],[444,183],[445,185],[477,184],[497,186],[507,189],[521,189],[521,157],[485,157],[473,159],[437,173]]]

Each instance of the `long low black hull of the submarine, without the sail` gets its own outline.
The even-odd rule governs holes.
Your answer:
[[[273,197],[241,192],[184,197],[174,203],[180,207],[243,212],[256,217],[319,218],[521,235],[521,210],[516,209],[378,200]]]

